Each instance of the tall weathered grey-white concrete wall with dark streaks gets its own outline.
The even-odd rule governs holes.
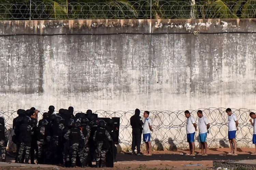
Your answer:
[[[0,21],[0,109],[251,109],[256,34],[200,33],[255,30],[255,19]]]

